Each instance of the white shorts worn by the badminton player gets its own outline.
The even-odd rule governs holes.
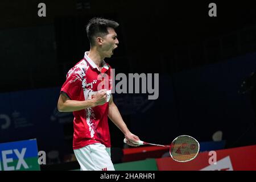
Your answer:
[[[115,171],[110,158],[110,148],[93,143],[74,150],[81,171]]]

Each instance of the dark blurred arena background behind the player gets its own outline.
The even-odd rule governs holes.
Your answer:
[[[45,17],[38,16],[42,2]],[[73,115],[59,113],[57,99],[90,48],[85,25],[98,16],[120,24],[119,47],[106,59],[116,74],[159,73],[157,100],[113,96],[131,132],[159,144],[181,134],[222,140],[223,148],[256,144],[256,4],[215,2],[217,17],[210,17],[209,3],[2,0],[0,143],[36,138],[48,164],[73,160]],[[109,125],[118,163],[128,146]]]

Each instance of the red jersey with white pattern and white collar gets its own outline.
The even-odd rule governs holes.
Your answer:
[[[100,72],[96,64],[87,55],[88,52],[85,52],[84,59],[69,70],[67,80],[61,87],[61,91],[65,92],[71,100],[85,101],[90,99],[93,92],[108,89],[106,88],[107,84],[102,85],[103,81],[108,82],[108,90],[111,90],[111,67],[103,61]],[[105,73],[107,77],[102,77],[101,73]],[[73,149],[82,148],[93,143],[102,143],[106,147],[111,146],[108,111],[108,102],[104,105],[73,111]]]

